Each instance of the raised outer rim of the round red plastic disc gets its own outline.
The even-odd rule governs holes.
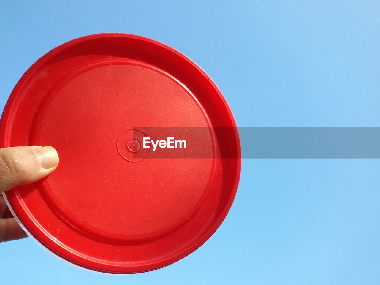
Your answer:
[[[132,265],[127,267],[117,267],[117,268],[110,268],[109,265],[104,265],[102,266],[101,263],[95,262],[93,260],[84,260],[82,257],[81,258],[69,258],[68,249],[64,249],[62,246],[59,245],[59,243],[53,242],[49,237],[46,236],[45,239],[43,239],[43,235],[41,237],[40,235],[37,235],[35,232],[33,232],[33,229],[29,226],[25,226],[22,221],[25,222],[25,220],[28,219],[28,215],[25,212],[18,211],[16,207],[12,207],[12,203],[10,203],[10,198],[12,197],[11,192],[4,192],[3,196],[6,200],[6,203],[8,204],[9,209],[13,213],[14,217],[16,218],[17,222],[22,226],[22,228],[25,230],[25,232],[32,237],[32,239],[40,244],[44,249],[46,249],[48,252],[52,253],[56,257],[60,258],[63,261],[66,261],[67,263],[78,266],[79,268],[84,268],[84,269],[89,269],[93,271],[99,271],[99,272],[105,272],[105,273],[139,273],[139,272],[146,272],[146,271],[152,271],[155,269],[159,269],[162,267],[165,267],[169,264],[172,264],[185,256],[189,255],[190,253],[194,252],[196,249],[198,249],[204,242],[206,242],[212,234],[215,233],[215,231],[218,229],[218,227],[222,224],[223,220],[225,219],[226,215],[228,214],[232,203],[234,201],[234,198],[236,196],[237,192],[237,187],[239,184],[239,179],[240,179],[240,174],[241,174],[241,145],[240,145],[240,139],[239,139],[239,134],[237,132],[237,127],[236,127],[236,122],[234,120],[233,114],[231,112],[230,107],[228,106],[225,98],[223,97],[222,93],[218,89],[218,87],[215,85],[215,83],[211,80],[211,78],[200,68],[198,65],[196,65],[192,60],[188,59],[185,55],[182,53],[176,51],[172,47],[167,46],[166,44],[160,43],[156,40],[152,40],[150,38],[146,38],[143,36],[138,36],[138,35],[132,35],[132,34],[125,34],[125,33],[98,33],[98,34],[93,34],[93,35],[87,35],[87,36],[82,36],[73,40],[70,40],[66,43],[63,43],[51,51],[47,52],[44,54],[40,59],[38,59],[33,65],[28,68],[28,70],[22,75],[21,79],[17,82],[16,86],[14,87],[13,91],[11,92],[11,95],[9,96],[8,101],[6,102],[6,105],[4,107],[2,117],[0,120],[0,147],[9,147],[9,141],[7,141],[7,135],[8,135],[8,130],[9,130],[9,120],[14,114],[14,103],[17,99],[17,95],[22,90],[24,87],[24,83],[27,82],[30,79],[30,76],[33,76],[35,70],[37,70],[46,60],[50,59],[53,57],[55,54],[63,51],[69,46],[72,46],[74,44],[83,42],[83,41],[88,41],[92,40],[95,38],[106,38],[106,37],[124,37],[124,38],[133,38],[135,40],[139,41],[146,41],[149,42],[150,44],[154,44],[155,46],[159,46],[161,48],[166,49],[167,51],[176,54],[177,56],[182,57],[182,59],[186,60],[188,63],[190,63],[193,68],[195,68],[199,74],[201,74],[204,78],[209,81],[209,83],[212,85],[213,89],[216,91],[220,99],[222,100],[226,111],[228,112],[231,123],[233,125],[234,130],[234,135],[236,138],[236,146],[237,146],[237,169],[236,169],[236,176],[234,177],[234,182],[233,185],[229,188],[229,191],[231,193],[227,203],[225,204],[225,207],[223,208],[223,211],[220,213],[218,219],[214,220],[215,222],[212,224],[212,226],[209,227],[209,229],[204,232],[202,236],[198,238],[198,240],[190,247],[188,247],[186,250],[183,250],[180,253],[177,253],[176,255],[171,255],[169,257],[166,257],[163,260],[160,260],[159,262],[151,263],[151,264],[144,264],[144,265]],[[235,139],[234,138],[234,139]],[[15,211],[16,210],[16,211]],[[17,212],[17,214],[16,214]],[[29,230],[28,230],[29,229]]]

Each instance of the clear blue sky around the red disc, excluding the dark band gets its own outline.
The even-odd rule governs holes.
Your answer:
[[[0,105],[73,38],[154,38],[203,68],[239,126],[380,126],[378,1],[2,1]],[[154,272],[74,268],[31,239],[0,244],[1,284],[378,284],[380,160],[245,159],[225,222]]]

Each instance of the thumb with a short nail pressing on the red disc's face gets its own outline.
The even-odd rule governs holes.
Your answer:
[[[17,185],[40,180],[50,174],[59,162],[51,146],[17,146],[0,149],[0,194]]]

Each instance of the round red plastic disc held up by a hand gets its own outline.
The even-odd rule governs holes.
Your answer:
[[[151,157],[142,140],[155,127],[209,128],[195,141],[212,155]],[[239,182],[239,136],[218,88],[187,57],[141,36],[84,36],[41,57],[9,97],[0,139],[57,149],[50,176],[6,198],[44,247],[101,272],[150,271],[190,254],[222,223]]]

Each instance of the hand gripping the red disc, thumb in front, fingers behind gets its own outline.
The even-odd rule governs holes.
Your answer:
[[[0,242],[27,237],[9,211],[4,191],[33,183],[57,168],[57,151],[51,146],[17,146],[0,149]]]

